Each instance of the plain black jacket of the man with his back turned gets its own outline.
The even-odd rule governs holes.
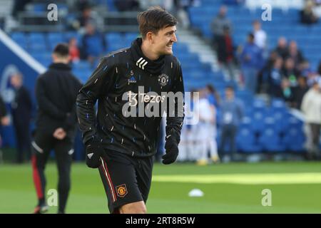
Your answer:
[[[52,63],[36,81],[36,130],[52,134],[63,128],[69,137],[76,129],[76,97],[81,82],[64,63]]]

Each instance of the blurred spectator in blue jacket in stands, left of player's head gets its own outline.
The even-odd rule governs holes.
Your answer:
[[[103,34],[96,30],[93,24],[86,25],[86,33],[82,38],[83,58],[92,65],[106,51]]]

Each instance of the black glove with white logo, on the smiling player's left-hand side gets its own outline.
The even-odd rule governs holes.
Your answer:
[[[86,165],[91,168],[97,168],[101,165],[101,157],[103,157],[104,150],[101,143],[92,140],[86,143]]]

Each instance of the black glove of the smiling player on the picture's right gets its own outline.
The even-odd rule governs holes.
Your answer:
[[[165,150],[163,155],[163,164],[168,165],[175,162],[178,156],[178,143],[180,142],[180,136],[174,129],[170,130],[170,134],[166,136]]]

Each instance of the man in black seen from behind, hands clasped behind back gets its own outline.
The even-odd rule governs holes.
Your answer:
[[[76,96],[81,83],[68,66],[68,44],[59,43],[49,70],[37,78],[36,130],[31,142],[34,185],[39,203],[34,213],[46,212],[44,169],[51,150],[58,166],[58,213],[64,213],[70,190],[73,139],[76,133]]]

